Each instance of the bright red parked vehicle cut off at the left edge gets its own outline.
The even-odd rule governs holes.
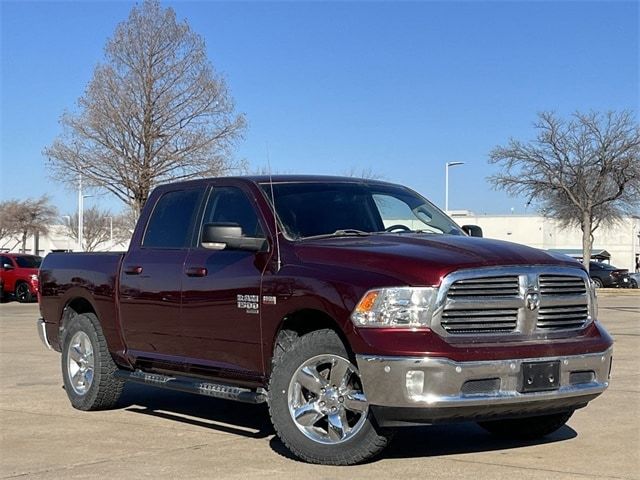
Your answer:
[[[38,295],[38,268],[42,257],[22,253],[0,255],[2,296],[13,295],[20,303],[33,302]]]

